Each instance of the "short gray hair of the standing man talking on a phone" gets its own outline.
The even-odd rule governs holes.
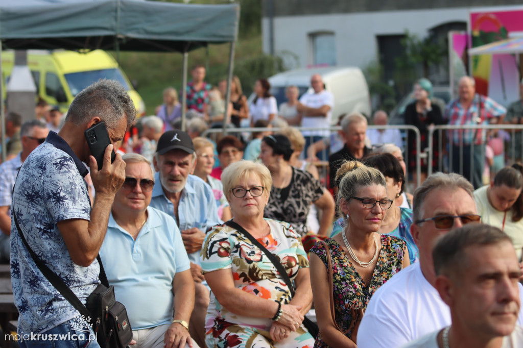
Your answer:
[[[76,95],[67,111],[65,122],[82,125],[95,116],[111,129],[124,117],[127,118],[128,125],[133,123],[136,108],[119,82],[100,79]]]

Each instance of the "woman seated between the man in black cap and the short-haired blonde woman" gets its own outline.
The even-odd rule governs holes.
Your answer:
[[[214,145],[209,139],[200,136],[194,138],[192,144],[195,146],[196,165],[191,174],[196,175],[209,184],[218,207],[218,217],[223,221],[227,221],[231,218],[231,208],[223,194],[222,182],[211,177],[211,171],[214,167]]]

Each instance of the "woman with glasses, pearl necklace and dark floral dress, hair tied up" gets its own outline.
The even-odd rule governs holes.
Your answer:
[[[356,347],[359,323],[370,297],[410,265],[405,242],[379,234],[385,212],[393,203],[383,174],[359,161],[347,161],[336,173],[336,180],[339,178],[337,208],[346,219],[346,227],[325,240],[328,250],[319,242],[310,253],[312,293],[320,328],[315,347]],[[330,275],[327,252],[332,260]],[[333,279],[332,290],[329,277]],[[326,295],[331,291],[336,324]]]

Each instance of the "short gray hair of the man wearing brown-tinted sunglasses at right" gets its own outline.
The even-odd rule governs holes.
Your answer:
[[[437,189],[463,189],[467,192],[472,200],[474,200],[474,187],[469,180],[457,173],[441,173],[437,172],[431,174],[423,184],[414,191],[414,199],[412,202],[412,220],[414,222],[423,219],[423,203],[427,194],[430,191]]]

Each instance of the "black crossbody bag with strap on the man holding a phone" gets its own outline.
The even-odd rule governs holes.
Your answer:
[[[47,280],[62,294],[63,297],[73,307],[80,312],[84,319],[92,325],[93,331],[96,334],[96,340],[100,347],[103,348],[124,348],[131,343],[132,329],[129,318],[127,317],[126,307],[116,301],[115,288],[109,285],[107,275],[105,274],[104,265],[101,263],[100,255],[96,257],[100,264],[100,274],[98,279],[100,284],[95,288],[92,294],[87,297],[87,304],[84,306],[82,301],[73,293],[64,281],[56,275],[49,267],[43,263],[37,254],[29,247],[16,218],[15,210],[13,209],[13,217],[15,220],[18,234],[24,244],[29,250],[33,261],[46,276]]]

